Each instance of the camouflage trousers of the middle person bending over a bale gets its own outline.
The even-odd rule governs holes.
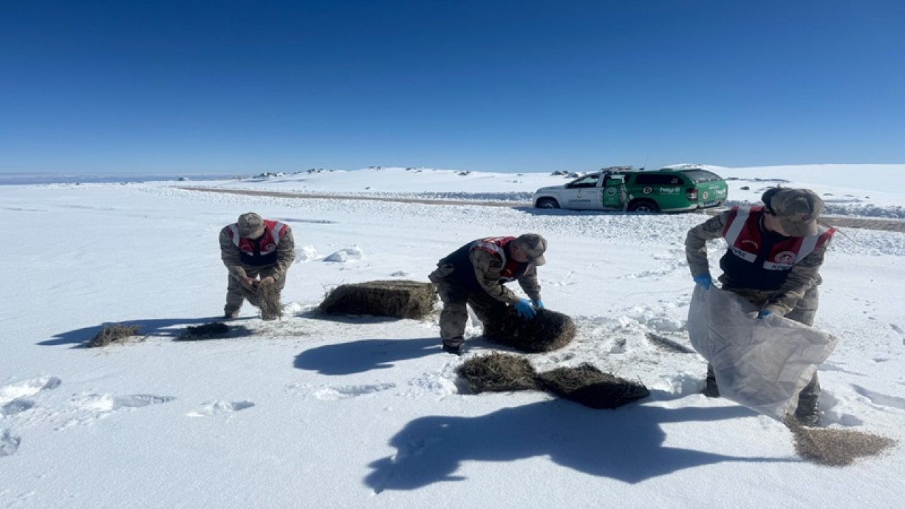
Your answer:
[[[494,299],[486,292],[473,292],[464,288],[462,284],[448,277],[452,274],[452,266],[443,265],[428,276],[443,302],[443,311],[440,312],[440,339],[443,344],[460,346],[465,342],[465,325],[468,323],[468,308],[477,315],[481,323],[486,324],[490,317],[499,314],[492,312],[495,307],[506,307],[505,303]]]

